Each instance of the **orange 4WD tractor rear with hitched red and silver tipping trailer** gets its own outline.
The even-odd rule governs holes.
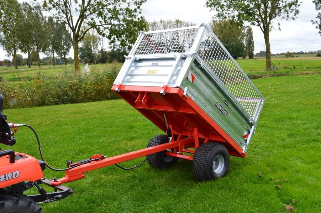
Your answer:
[[[72,194],[73,190],[62,183],[143,156],[157,168],[170,167],[179,158],[190,160],[198,180],[220,178],[229,169],[230,155],[246,157],[265,102],[204,24],[141,32],[112,90],[166,134],[154,136],[145,149],[110,158],[99,154],[75,163],[67,161],[65,169],[52,168],[45,162],[32,127],[6,122],[0,97],[1,143],[12,146],[13,130],[27,126],[37,137],[42,158],[0,151],[0,212],[41,212],[36,202],[48,203]],[[65,176],[43,178],[46,166],[65,171]],[[47,193],[39,186],[41,183],[54,188],[54,192]],[[24,196],[24,191],[33,186],[39,194]]]

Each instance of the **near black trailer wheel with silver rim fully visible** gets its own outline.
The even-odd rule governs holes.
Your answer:
[[[229,151],[218,143],[203,143],[195,151],[193,170],[200,181],[215,180],[226,175],[230,166]]]

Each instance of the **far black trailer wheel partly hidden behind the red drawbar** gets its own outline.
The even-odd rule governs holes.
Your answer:
[[[147,148],[157,146],[163,143],[168,143],[169,139],[167,135],[156,135],[148,142]],[[178,161],[178,158],[167,156],[165,151],[157,152],[151,155],[147,155],[147,162],[150,166],[156,168],[167,168],[173,166]]]

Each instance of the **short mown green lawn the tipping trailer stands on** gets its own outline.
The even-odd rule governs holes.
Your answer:
[[[186,160],[162,170],[147,163],[130,171],[108,166],[66,183],[74,195],[42,208],[44,212],[285,212],[285,204],[295,212],[320,212],[320,81],[319,74],[253,81],[266,104],[247,158],[231,157],[224,178],[198,182],[192,162]],[[123,100],[11,109],[4,114],[36,129],[46,160],[57,168],[65,167],[65,160],[142,149],[162,133]],[[21,127],[15,137],[13,149],[40,158],[28,128]],[[133,166],[143,159],[121,165]],[[44,175],[60,178],[64,173],[47,168]]]

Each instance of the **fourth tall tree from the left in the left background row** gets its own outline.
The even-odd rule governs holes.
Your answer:
[[[49,47],[48,47],[48,56],[52,54],[53,66],[56,66],[55,52],[61,48],[62,44],[62,31],[60,28],[60,23],[53,20],[52,17],[48,18],[48,38],[49,38]]]

